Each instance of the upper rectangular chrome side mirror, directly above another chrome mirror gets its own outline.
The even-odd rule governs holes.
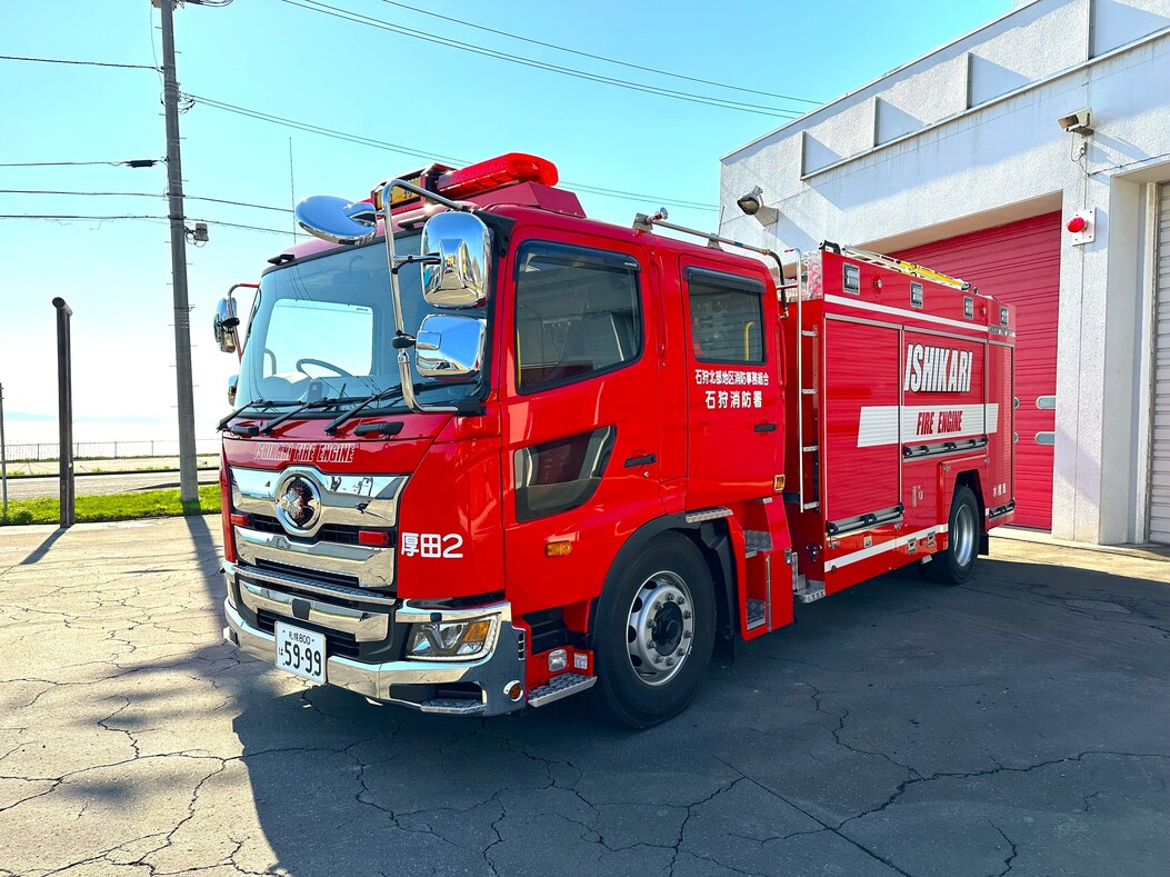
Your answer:
[[[490,294],[491,232],[472,213],[439,213],[422,226],[422,297],[434,308],[476,308]]]

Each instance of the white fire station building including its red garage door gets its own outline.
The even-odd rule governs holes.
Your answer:
[[[1016,525],[1170,543],[1170,0],[1017,2],[722,163],[727,237],[1017,306]]]

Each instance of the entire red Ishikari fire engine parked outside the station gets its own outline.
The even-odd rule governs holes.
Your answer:
[[[1014,508],[1010,306],[556,183],[512,153],[307,199],[246,343],[220,303],[229,642],[422,712],[594,688],[646,727],[794,603],[972,575]]]

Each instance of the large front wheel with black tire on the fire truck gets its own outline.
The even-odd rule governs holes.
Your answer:
[[[698,549],[674,533],[652,541],[598,602],[598,703],[608,718],[648,728],[695,697],[715,645],[715,591]]]

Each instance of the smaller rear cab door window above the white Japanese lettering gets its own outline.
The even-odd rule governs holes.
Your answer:
[[[690,338],[700,362],[764,362],[764,285],[749,278],[687,270]]]

